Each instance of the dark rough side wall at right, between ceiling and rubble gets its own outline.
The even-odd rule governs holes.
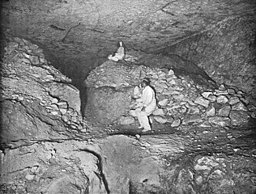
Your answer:
[[[227,18],[159,53],[193,61],[216,82],[237,86],[256,98],[255,23],[252,17]]]

